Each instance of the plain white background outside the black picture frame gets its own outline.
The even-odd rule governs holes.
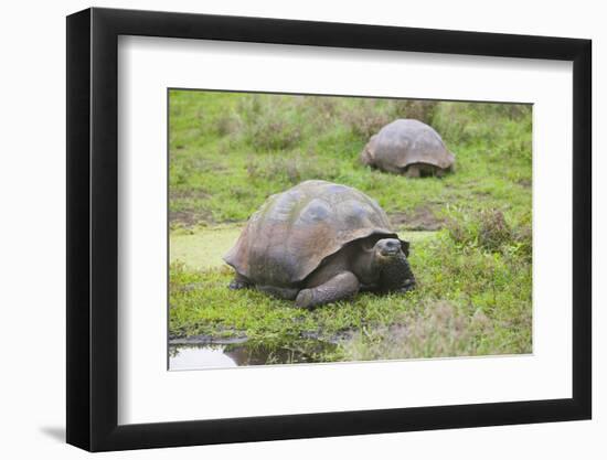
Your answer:
[[[85,1],[6,2],[2,6],[0,98],[0,452],[4,458],[81,458],[63,443],[65,398],[65,19]],[[607,231],[600,206],[607,165],[598,132],[607,100],[607,29],[600,2],[388,2],[271,0],[102,1],[98,7],[263,15],[587,38],[594,41],[595,314],[594,420],[549,425],[359,436],[252,445],[110,453],[109,458],[606,458],[607,446]],[[603,207],[603,208],[599,208]]]

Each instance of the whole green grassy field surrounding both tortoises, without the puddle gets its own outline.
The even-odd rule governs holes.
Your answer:
[[[443,136],[454,174],[360,164],[369,137],[405,117]],[[530,106],[172,90],[169,136],[170,336],[246,336],[307,361],[532,351]],[[302,311],[226,288],[221,256],[248,216],[307,179],[377,200],[412,242],[415,291]]]

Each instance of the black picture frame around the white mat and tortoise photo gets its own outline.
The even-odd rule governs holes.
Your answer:
[[[573,62],[573,397],[118,425],[119,35]],[[578,39],[97,8],[67,17],[67,442],[105,451],[590,418],[590,56]]]

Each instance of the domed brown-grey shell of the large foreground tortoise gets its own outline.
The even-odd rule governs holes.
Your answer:
[[[269,196],[224,260],[257,285],[291,287],[371,235],[397,237],[377,202],[350,186],[306,181]]]

